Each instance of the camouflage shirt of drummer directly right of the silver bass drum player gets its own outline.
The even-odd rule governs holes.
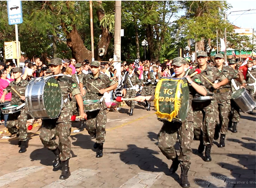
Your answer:
[[[116,84],[115,81],[111,80],[106,74],[99,73],[98,77],[93,77],[92,73],[85,74],[83,77],[79,80],[86,88],[86,94],[85,99],[86,100],[93,100],[102,98],[103,94],[100,94],[100,92],[97,90],[108,88],[114,84]],[[96,88],[94,88],[91,84],[93,84]],[[107,108],[105,101],[103,100],[101,102],[101,110],[104,110]]]

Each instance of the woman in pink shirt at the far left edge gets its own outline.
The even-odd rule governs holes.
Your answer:
[[[9,85],[9,83],[14,79],[7,79],[7,71],[2,69],[0,70],[0,98],[3,95],[3,90]],[[4,98],[4,104],[9,104],[12,98],[12,93],[8,93],[5,95]],[[2,107],[5,107],[6,105],[3,105]],[[6,127],[6,122],[8,119],[8,114],[4,114],[4,126]]]

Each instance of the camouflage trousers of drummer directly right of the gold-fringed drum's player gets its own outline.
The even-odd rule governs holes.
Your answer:
[[[217,112],[214,108],[203,108],[195,110],[194,114],[194,134],[198,138],[200,136],[200,129],[203,132],[204,145],[213,145],[214,129],[216,125]],[[198,135],[199,134],[199,135]]]

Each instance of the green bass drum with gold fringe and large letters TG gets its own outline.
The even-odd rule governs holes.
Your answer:
[[[161,79],[155,91],[157,117],[172,121],[184,121],[187,116],[189,99],[188,82],[185,78]]]

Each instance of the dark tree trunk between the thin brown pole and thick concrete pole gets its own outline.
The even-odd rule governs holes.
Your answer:
[[[103,16],[105,16],[105,11],[101,1],[97,1],[96,13],[99,21],[103,18]],[[95,59],[97,60],[102,60],[105,57],[108,51],[110,40],[113,38],[113,35],[111,33],[108,33],[108,28],[101,27],[101,30],[102,30],[102,33],[101,33],[100,41],[98,42],[98,46],[95,49],[95,54],[94,54]],[[104,51],[103,56],[99,56],[99,49]]]

